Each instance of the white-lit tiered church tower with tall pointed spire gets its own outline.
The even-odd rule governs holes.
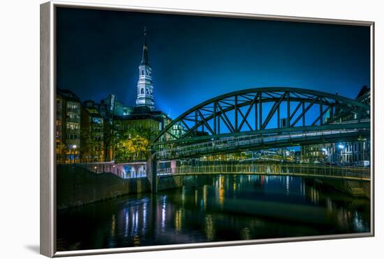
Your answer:
[[[142,46],[142,59],[139,65],[138,97],[136,107],[143,107],[154,111],[154,86],[152,86],[152,68],[148,61],[147,29],[144,27],[144,45]]]

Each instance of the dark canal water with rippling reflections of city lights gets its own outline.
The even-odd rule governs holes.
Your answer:
[[[57,251],[364,233],[369,211],[311,179],[188,176],[179,189],[57,212]]]

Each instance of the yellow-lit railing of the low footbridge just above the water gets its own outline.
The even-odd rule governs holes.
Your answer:
[[[158,170],[158,175],[198,174],[297,175],[351,180],[370,180],[371,178],[370,168],[316,166],[313,164],[221,164],[212,166],[180,166]]]

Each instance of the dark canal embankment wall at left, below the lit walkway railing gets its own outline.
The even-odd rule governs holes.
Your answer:
[[[58,166],[56,182],[58,210],[151,191],[147,178],[121,179],[112,173],[94,173],[79,166]]]

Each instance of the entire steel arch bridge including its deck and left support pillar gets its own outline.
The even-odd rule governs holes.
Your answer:
[[[149,179],[156,189],[157,159],[369,138],[367,104],[302,88],[246,89],[202,102],[167,125],[151,143]]]

